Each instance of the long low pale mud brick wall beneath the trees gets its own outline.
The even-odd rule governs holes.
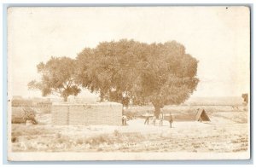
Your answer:
[[[53,125],[121,125],[122,104],[60,103],[52,106]]]

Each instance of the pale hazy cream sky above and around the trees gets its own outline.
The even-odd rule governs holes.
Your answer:
[[[183,43],[199,61],[193,96],[241,96],[249,92],[249,24],[246,7],[10,8],[9,91],[41,96],[27,90],[40,61],[75,58],[84,47],[132,38]]]

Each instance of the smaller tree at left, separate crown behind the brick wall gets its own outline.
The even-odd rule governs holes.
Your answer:
[[[74,82],[76,71],[75,61],[68,57],[51,57],[45,64],[38,64],[40,81],[32,80],[28,83],[29,90],[41,90],[42,96],[50,94],[60,96],[67,101],[68,96],[77,96],[79,85]]]

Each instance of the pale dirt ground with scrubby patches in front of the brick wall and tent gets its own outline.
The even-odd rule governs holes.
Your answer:
[[[211,122],[175,122],[127,126],[49,125],[50,114],[38,116],[39,125],[12,125],[14,152],[245,152],[249,146],[247,112],[212,113]]]

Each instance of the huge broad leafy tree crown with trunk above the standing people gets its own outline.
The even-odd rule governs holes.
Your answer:
[[[157,117],[161,107],[186,101],[199,82],[198,61],[175,41],[103,42],[79,53],[77,63],[79,84],[109,101],[151,102]]]

